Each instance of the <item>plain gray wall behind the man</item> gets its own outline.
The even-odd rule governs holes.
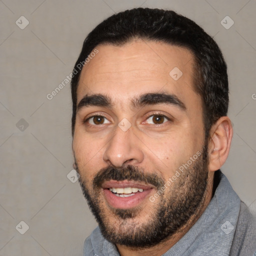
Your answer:
[[[96,223],[78,181],[66,176],[73,160],[69,84],[51,100],[46,95],[69,75],[97,23],[138,6],[173,9],[219,44],[228,65],[234,127],[222,171],[256,208],[256,0],[0,0],[1,256],[82,255]],[[24,29],[21,15],[29,21]],[[223,20],[227,15],[234,21],[229,29],[222,25],[231,24]],[[18,232],[25,228],[21,220],[29,226],[24,234]]]

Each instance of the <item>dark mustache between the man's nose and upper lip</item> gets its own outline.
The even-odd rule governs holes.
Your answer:
[[[157,189],[164,185],[164,180],[156,173],[145,173],[141,168],[133,165],[125,167],[108,166],[101,168],[93,178],[93,187],[100,187],[104,181],[109,180],[128,180],[140,181],[155,186]]]

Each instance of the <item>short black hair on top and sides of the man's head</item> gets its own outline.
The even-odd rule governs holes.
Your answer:
[[[71,79],[72,135],[74,134],[77,86],[81,69],[99,44],[123,45],[133,39],[162,41],[185,47],[194,56],[194,91],[201,96],[205,137],[216,120],[227,114],[228,79],[222,53],[214,41],[191,19],[172,10],[133,8],[114,14],[98,24],[85,38]]]

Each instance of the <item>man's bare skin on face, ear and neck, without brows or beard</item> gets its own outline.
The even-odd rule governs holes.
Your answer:
[[[112,107],[87,106],[77,111],[72,148],[80,183],[93,197],[93,179],[100,169],[127,165],[135,166],[144,173],[155,173],[166,182],[190,157],[202,151],[205,142],[201,99],[193,90],[192,54],[182,47],[142,40],[133,40],[122,46],[97,45],[97,49],[98,53],[82,69],[77,104],[85,95],[101,93],[111,99]],[[182,71],[178,80],[169,75],[174,67]],[[185,109],[166,103],[132,107],[134,97],[160,92],[174,94],[183,102]],[[155,124],[149,116],[159,114],[169,119],[164,118],[162,123]],[[88,120],[97,115],[105,117],[101,119],[102,124],[93,124],[92,118]],[[127,131],[118,126],[123,118],[131,124]],[[211,127],[210,138],[206,141],[208,168],[204,169],[208,183],[201,203],[185,225],[164,242],[151,247],[138,250],[116,244],[121,255],[161,255],[189,230],[211,199],[213,173],[224,163],[231,137],[229,118],[219,118]],[[174,184],[180,185],[184,178],[181,175]],[[172,187],[166,188],[165,194],[154,202],[149,201],[149,196],[157,191],[152,189],[138,205],[138,213],[125,222],[113,214],[116,209],[109,206],[102,189],[98,191],[97,200],[109,225],[115,226],[119,234],[125,234],[127,230],[150,223],[150,214],[162,203],[161,198],[167,194],[174,196]]]

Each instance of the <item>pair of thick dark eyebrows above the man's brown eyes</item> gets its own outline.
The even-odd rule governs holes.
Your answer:
[[[134,97],[131,100],[132,108],[140,108],[146,105],[155,104],[170,104],[177,106],[181,110],[185,110],[185,104],[174,94],[162,93],[145,93]],[[79,111],[81,108],[88,106],[103,106],[107,108],[112,108],[113,104],[111,99],[104,94],[91,94],[85,95],[78,103],[76,110]]]

